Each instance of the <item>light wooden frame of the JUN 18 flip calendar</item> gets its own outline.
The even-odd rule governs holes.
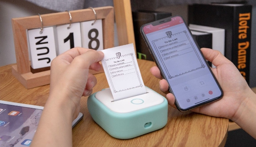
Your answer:
[[[102,19],[103,48],[114,47],[114,9],[111,6],[94,8],[97,19]],[[72,23],[94,20],[95,15],[92,9],[80,9],[69,11],[72,16]],[[41,15],[43,27],[69,24],[68,12],[57,12]],[[12,19],[14,34],[14,45],[16,54],[16,65],[12,66],[12,74],[25,86],[30,89],[50,83],[50,70],[31,73],[29,51],[27,45],[26,31],[29,29],[41,28],[39,15]],[[89,71],[92,74],[103,72]]]

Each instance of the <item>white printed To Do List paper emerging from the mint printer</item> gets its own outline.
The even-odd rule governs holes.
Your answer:
[[[102,52],[102,66],[115,101],[146,93],[133,44]]]

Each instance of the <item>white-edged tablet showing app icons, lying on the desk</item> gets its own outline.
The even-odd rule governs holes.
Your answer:
[[[0,147],[29,146],[44,107],[0,100]],[[83,114],[72,122],[72,128]]]

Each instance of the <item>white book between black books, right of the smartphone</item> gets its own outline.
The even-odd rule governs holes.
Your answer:
[[[225,55],[225,29],[189,24],[189,29],[194,31],[208,32],[212,34],[212,49],[218,50]],[[200,47],[200,46],[199,46]],[[212,65],[212,67],[215,67]]]

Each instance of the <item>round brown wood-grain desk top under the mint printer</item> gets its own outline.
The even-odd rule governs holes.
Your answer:
[[[150,73],[150,67],[155,63],[138,60],[144,84],[156,92],[159,90],[159,80]],[[98,83],[94,88],[97,92],[108,88],[104,73],[95,74]],[[26,89],[11,74],[11,65],[0,67],[0,100],[44,106],[49,95],[49,85]],[[73,128],[73,146],[224,146],[227,139],[229,120],[211,117],[192,112],[179,112],[168,107],[168,121],[164,128],[139,136],[121,140],[108,135],[96,124],[87,109],[87,97],[81,99],[83,119]]]

